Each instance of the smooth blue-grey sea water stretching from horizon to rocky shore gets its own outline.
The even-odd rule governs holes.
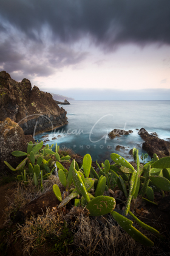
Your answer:
[[[129,151],[134,147],[140,155],[144,153],[143,140],[136,129],[157,132],[164,140],[170,138],[170,101],[71,101],[70,105],[60,107],[67,111],[69,124],[38,134],[35,139],[45,140],[42,136],[49,135],[49,145],[58,143],[60,148],[71,148],[77,154],[88,153],[94,161],[111,160],[113,152],[131,161]],[[133,130],[133,133],[111,140],[108,133],[113,129]],[[56,140],[52,140],[54,137]],[[117,145],[125,149],[116,151]]]

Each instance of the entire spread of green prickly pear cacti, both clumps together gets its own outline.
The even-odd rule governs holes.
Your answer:
[[[17,176],[18,180],[23,180],[27,184],[27,175],[33,179],[36,186],[41,185],[43,189],[42,180],[47,179],[55,170],[55,164],[58,168],[58,177],[60,182],[66,189],[65,196],[62,197],[58,185],[53,185],[53,192],[60,201],[58,209],[64,207],[72,199],[74,199],[74,206],[86,207],[89,210],[90,216],[100,216],[111,214],[112,218],[118,222],[122,229],[124,229],[134,240],[139,241],[145,246],[153,246],[154,243],[132,226],[133,222],[126,218],[129,214],[132,216],[138,225],[155,234],[157,230],[141,222],[133,213],[130,212],[131,201],[137,197],[143,198],[146,202],[154,203],[154,191],[159,190],[170,191],[170,157],[164,157],[160,160],[154,154],[154,158],[144,166],[140,164],[138,150],[133,149],[132,154],[134,162],[137,165],[135,169],[131,163],[127,162],[118,154],[112,153],[110,157],[115,162],[110,165],[109,160],[98,165],[99,172],[92,167],[92,158],[89,154],[84,155],[83,165],[79,168],[78,163],[72,160],[70,163],[70,156],[66,155],[60,157],[59,146],[56,144],[55,152],[52,151],[52,146],[46,145],[42,148],[43,142],[33,146],[32,142],[28,144],[27,153],[21,151],[14,151],[12,155],[15,157],[24,157],[21,163],[16,168],[13,168],[9,163],[5,164],[12,171],[21,171]],[[52,162],[52,158],[55,161]],[[70,163],[69,171],[64,168],[62,163]],[[123,191],[126,198],[126,208],[124,216],[116,212],[116,201],[113,196],[106,196],[109,192],[114,194],[111,190],[111,181],[115,180],[118,188]],[[67,195],[67,196],[66,196]]]

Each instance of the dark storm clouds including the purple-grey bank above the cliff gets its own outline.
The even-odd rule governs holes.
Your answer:
[[[2,0],[0,65],[9,73],[50,76],[88,56],[74,44],[170,44],[169,0]],[[89,46],[90,48],[90,46]],[[19,77],[19,74],[14,74]]]

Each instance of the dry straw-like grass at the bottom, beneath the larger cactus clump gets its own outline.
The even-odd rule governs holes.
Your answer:
[[[163,252],[164,248],[159,247],[162,242],[156,239],[153,234],[141,229],[141,227],[137,227],[137,229],[155,241],[155,246],[146,247],[135,242],[120,226],[114,226],[108,221],[107,225],[101,226],[96,218],[81,216],[79,229],[74,236],[74,244],[77,246],[79,255],[170,255],[170,253],[165,254]]]

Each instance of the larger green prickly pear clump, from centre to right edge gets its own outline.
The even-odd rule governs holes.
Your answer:
[[[129,162],[127,162],[123,157],[118,154],[111,154],[110,157],[114,160],[115,164],[110,165],[109,161],[106,160],[104,163],[97,166],[99,172],[97,173],[95,169],[91,166],[92,159],[89,154],[85,155],[83,158],[83,168],[79,169],[78,164],[75,160],[72,161],[69,172],[64,172],[64,167],[60,164],[62,174],[59,175],[61,183],[66,187],[66,191],[69,193],[67,197],[62,200],[61,192],[57,185],[53,185],[53,191],[56,197],[60,200],[58,208],[65,206],[69,201],[74,199],[75,206],[86,207],[89,210],[90,216],[100,216],[110,213],[112,218],[114,218],[118,224],[134,238],[134,240],[139,241],[145,246],[153,246],[154,243],[139,232],[135,227],[132,226],[133,222],[126,218],[129,214],[134,218],[134,221],[144,229],[150,230],[154,233],[159,233],[157,230],[141,222],[137,217],[135,217],[130,212],[130,206],[132,199],[136,199],[138,196],[146,196],[148,202],[154,201],[154,191],[152,186],[165,191],[170,190],[169,180],[167,179],[169,173],[169,158],[162,161],[160,164],[158,158],[146,165],[140,165],[140,160],[138,157],[138,150],[133,149],[134,161],[137,165],[135,169]],[[157,162],[157,165],[156,165]],[[166,163],[165,163],[166,162]],[[153,166],[152,166],[153,165]],[[153,176],[153,168],[162,168],[166,171],[166,177],[163,176]],[[159,170],[160,171],[160,170]],[[158,173],[157,170],[155,173]],[[126,208],[124,215],[117,213],[115,209],[115,199],[112,196],[105,196],[104,191],[111,192],[110,189],[110,179],[114,177],[120,190],[124,192],[126,197]],[[158,179],[158,182],[157,182]],[[167,182],[168,180],[168,182]],[[113,191],[112,191],[113,192]],[[153,204],[155,204],[153,202]]]

